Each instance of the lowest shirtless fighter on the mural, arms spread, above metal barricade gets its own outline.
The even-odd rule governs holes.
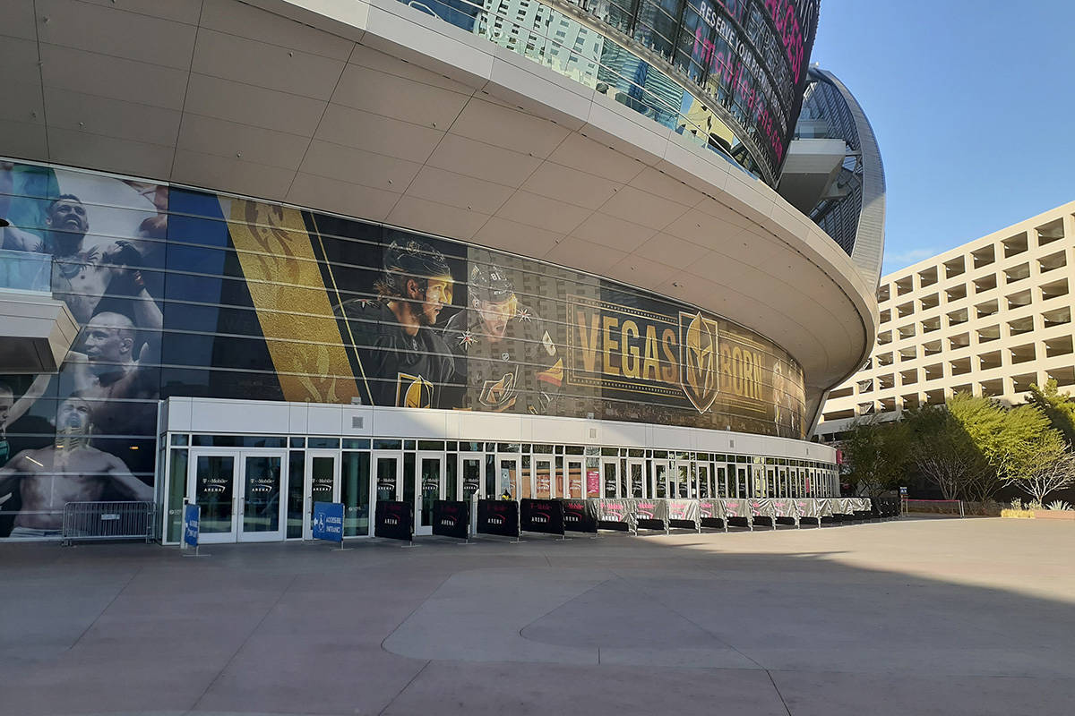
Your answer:
[[[106,489],[130,500],[153,500],[153,487],[118,457],[89,445],[89,404],[72,395],[56,412],[56,439],[47,448],[24,450],[0,468],[0,510],[18,493],[23,507],[12,539],[59,537],[67,502],[97,501]]]

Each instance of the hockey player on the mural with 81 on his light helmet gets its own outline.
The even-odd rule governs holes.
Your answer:
[[[468,386],[463,407],[548,413],[563,381],[563,357],[544,322],[519,303],[499,266],[472,266],[468,291],[468,309],[444,326],[457,356],[456,381]]]

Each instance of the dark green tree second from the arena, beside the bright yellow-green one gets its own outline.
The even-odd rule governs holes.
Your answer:
[[[909,410],[904,420],[914,437],[912,462],[944,499],[965,497],[997,481],[995,468],[947,406]]]

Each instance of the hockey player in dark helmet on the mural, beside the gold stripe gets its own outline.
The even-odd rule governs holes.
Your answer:
[[[347,321],[374,405],[439,408],[455,360],[432,326],[452,305],[454,280],[444,254],[419,240],[385,249],[376,298],[353,298],[335,308]]]

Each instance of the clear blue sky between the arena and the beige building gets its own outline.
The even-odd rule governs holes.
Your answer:
[[[1075,2],[821,0],[877,135],[889,273],[1075,201]]]

